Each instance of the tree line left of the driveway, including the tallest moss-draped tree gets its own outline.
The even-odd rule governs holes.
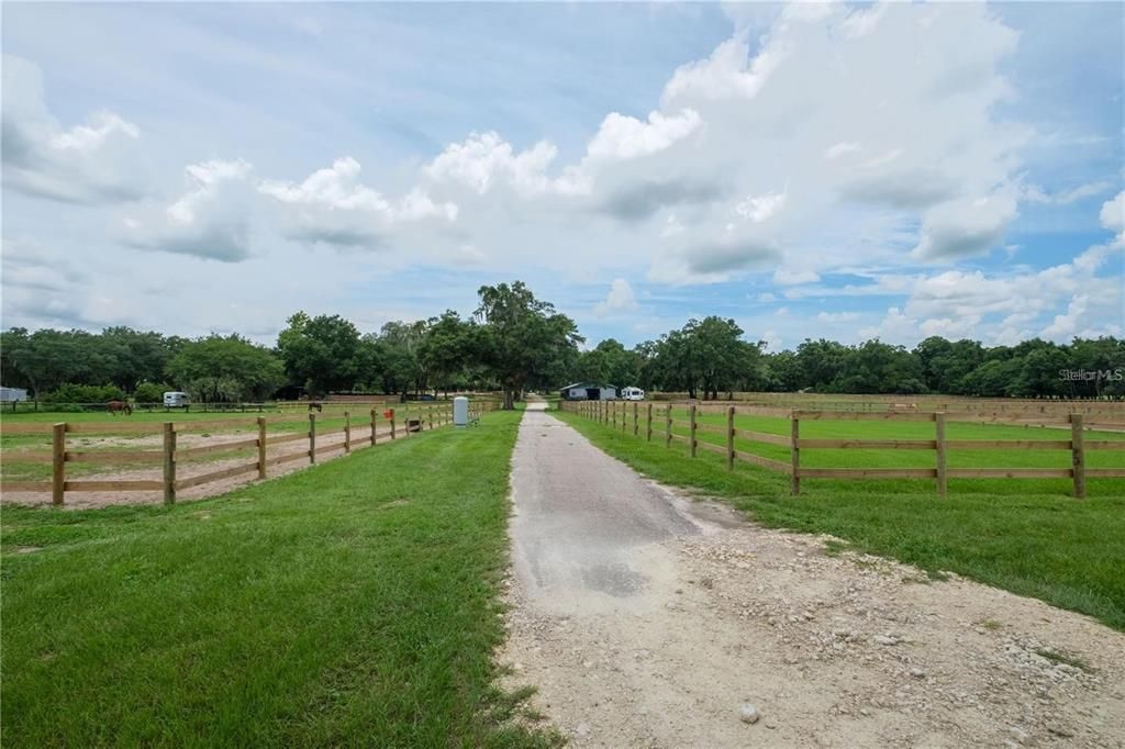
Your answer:
[[[507,407],[523,389],[550,388],[566,377],[583,342],[574,321],[520,281],[482,287],[478,296],[469,317],[448,310],[369,333],[340,315],[297,312],[273,346],[237,334],[12,327],[0,333],[0,371],[4,386],[55,403],[126,396],[160,403],[166,390],[223,403],[264,400],[282,388],[314,398],[484,389],[503,390]]]

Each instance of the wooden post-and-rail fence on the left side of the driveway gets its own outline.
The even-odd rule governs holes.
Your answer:
[[[469,401],[469,417],[477,418],[482,413],[495,410],[493,399]],[[176,495],[182,489],[210,484],[248,473],[256,473],[264,479],[271,466],[278,466],[296,460],[307,460],[316,463],[317,455],[342,450],[344,454],[366,446],[375,446],[380,440],[408,437],[412,433],[440,428],[453,422],[452,404],[411,404],[400,408],[371,408],[363,421],[353,422],[351,412],[343,412],[343,426],[317,428],[317,414],[308,414],[308,431],[278,431],[269,433],[269,421],[259,418],[218,418],[213,421],[186,422],[127,422],[124,418],[115,422],[61,422],[57,424],[3,424],[4,435],[51,435],[51,450],[4,450],[6,463],[51,463],[51,480],[48,481],[12,481],[0,478],[0,493],[32,491],[50,493],[53,505],[63,505],[69,491],[163,491],[164,503],[176,502]],[[294,418],[288,417],[289,422]],[[219,440],[207,444],[180,448],[177,437],[183,433],[204,432],[205,430],[256,430],[254,436],[240,440]],[[69,444],[68,436],[72,434],[161,434],[162,446],[154,450],[82,450],[80,445]],[[343,441],[340,441],[340,436]],[[209,434],[205,433],[205,436]],[[336,441],[325,443],[325,437],[336,437]],[[306,442],[307,448],[297,452],[287,452],[272,458],[267,457],[269,445],[290,442]],[[78,450],[72,448],[78,446]],[[237,466],[207,473],[178,477],[180,463],[216,453],[254,452],[254,459]],[[101,463],[101,464],[140,464],[162,466],[160,479],[144,480],[72,480],[66,477],[68,463]]]

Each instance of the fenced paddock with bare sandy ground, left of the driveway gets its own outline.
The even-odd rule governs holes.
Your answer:
[[[472,399],[470,413],[494,406]],[[451,404],[393,408],[341,404],[249,417],[228,413],[9,415],[0,421],[0,488],[7,502],[80,506],[198,498],[317,459],[403,439],[451,422]],[[58,422],[60,416],[65,422]],[[171,421],[171,419],[176,421]],[[241,477],[241,478],[240,478]],[[79,494],[75,494],[79,493]]]

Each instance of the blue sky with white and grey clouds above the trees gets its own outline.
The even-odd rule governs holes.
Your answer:
[[[6,328],[271,344],[516,279],[587,345],[1125,327],[1123,3],[0,13]]]

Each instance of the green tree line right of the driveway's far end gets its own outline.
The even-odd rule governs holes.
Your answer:
[[[807,339],[795,350],[765,349],[747,341],[734,319],[692,319],[632,349],[602,341],[579,355],[574,379],[704,399],[735,391],[1125,397],[1125,341],[1112,336],[986,346],[935,335],[914,349]]]

